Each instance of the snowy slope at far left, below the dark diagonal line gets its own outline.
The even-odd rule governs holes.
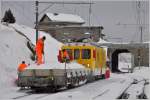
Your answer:
[[[11,27],[0,27],[0,89],[14,85],[18,64],[25,60],[32,63],[27,39]]]

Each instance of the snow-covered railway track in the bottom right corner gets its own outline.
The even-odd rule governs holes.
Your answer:
[[[149,84],[147,79],[134,79],[117,99],[148,99],[145,94],[145,86]]]

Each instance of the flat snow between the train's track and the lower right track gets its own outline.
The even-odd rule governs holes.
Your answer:
[[[110,79],[100,80],[73,90],[45,96],[41,100],[116,100],[118,96],[133,82],[133,79],[141,80],[143,78],[148,78],[149,71],[149,67],[142,67],[140,70],[135,68],[134,73],[112,74]],[[141,87],[140,84],[139,87]],[[134,92],[134,89],[131,90],[131,93]],[[149,85],[147,85],[145,92],[149,98]],[[130,100],[135,99],[136,98]]]

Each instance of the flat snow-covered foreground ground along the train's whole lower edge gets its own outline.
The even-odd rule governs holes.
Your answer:
[[[134,73],[126,74],[111,74],[110,79],[99,80],[86,85],[64,90],[57,93],[29,93],[19,91],[19,88],[9,89],[9,94],[1,95],[1,100],[19,99],[19,100],[113,100],[116,99],[122,91],[133,81],[133,79],[141,80],[149,78],[148,67],[136,68]],[[139,85],[140,86],[140,85]],[[138,86],[137,86],[138,87]],[[130,91],[134,93],[133,91]],[[146,89],[146,94],[149,97],[149,86]],[[131,100],[136,98],[132,98]]]

